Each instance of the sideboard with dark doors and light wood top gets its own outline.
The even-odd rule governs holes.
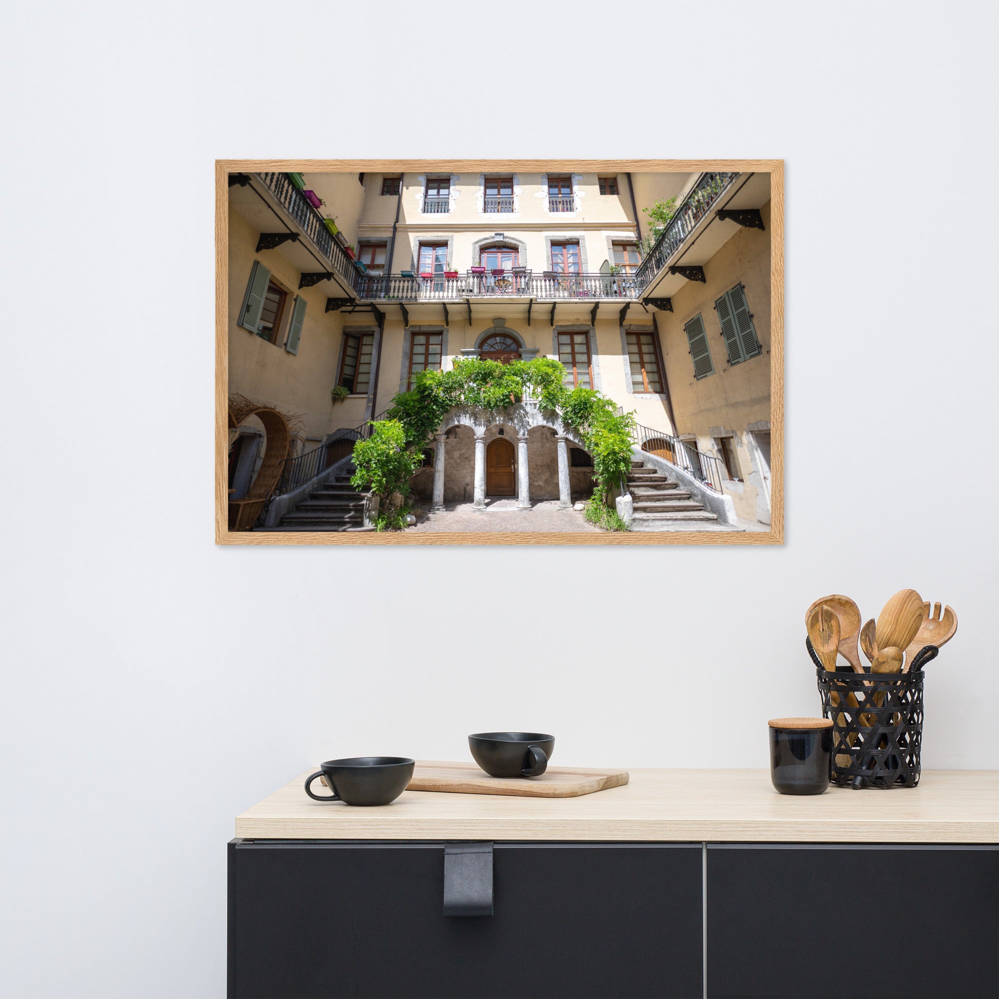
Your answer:
[[[788,797],[762,770],[632,770],[383,808],[304,777],[236,820],[237,999],[999,995],[996,772]],[[445,914],[467,843],[492,915]]]

